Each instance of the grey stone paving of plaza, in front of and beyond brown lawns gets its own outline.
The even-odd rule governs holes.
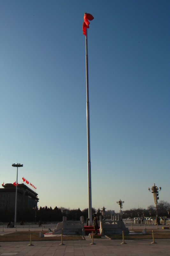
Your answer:
[[[134,229],[143,228],[134,225]],[[147,229],[156,229],[156,226],[147,226]],[[0,238],[4,234],[14,232],[15,228],[0,227]],[[21,228],[18,228],[21,230]],[[32,231],[40,231],[41,228],[30,228]],[[46,231],[48,228],[45,226]],[[129,226],[130,229],[130,226]],[[162,226],[159,226],[162,229]],[[28,231],[28,227],[22,228]],[[61,241],[33,241],[33,246],[28,246],[29,242],[1,242],[0,255],[17,256],[162,256],[170,255],[170,239],[155,239],[157,244],[151,244],[150,239],[125,240],[127,244],[121,244],[122,240],[110,240],[107,237],[92,239],[85,236],[85,240],[63,241],[64,245],[59,245]]]

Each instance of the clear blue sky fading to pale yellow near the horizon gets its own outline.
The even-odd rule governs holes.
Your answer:
[[[154,183],[170,203],[170,1],[0,0],[0,10],[0,184],[18,162],[39,207],[88,207],[88,12],[92,207],[147,208]]]

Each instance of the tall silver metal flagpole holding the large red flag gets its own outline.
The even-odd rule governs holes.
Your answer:
[[[89,74],[88,74],[88,47],[87,29],[85,36],[86,50],[86,94],[87,94],[87,170],[88,170],[88,203],[89,203],[89,226],[92,226],[92,186],[91,186],[91,160],[90,160],[90,115],[89,115]]]

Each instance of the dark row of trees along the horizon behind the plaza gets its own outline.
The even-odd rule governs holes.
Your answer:
[[[168,210],[170,210],[170,204],[165,201],[160,201],[158,203],[158,213],[160,217],[170,217],[168,214]],[[99,219],[99,216],[102,215],[101,210],[94,209],[92,208],[92,214],[96,213]],[[169,212],[170,213],[170,212]],[[1,219],[0,221],[3,222],[8,222],[8,221],[13,221],[14,220],[14,209],[6,208],[4,210],[1,210]],[[80,220],[80,216],[84,216],[84,220],[88,218],[88,208],[84,209],[81,211],[79,208],[78,209],[67,209],[64,207],[58,208],[57,206],[52,209],[52,207],[40,207],[38,208],[33,208],[31,210],[24,209],[24,210],[19,210],[17,211],[17,221],[39,221],[41,220],[42,222],[52,222],[52,221],[62,221],[63,216],[67,217],[67,220]],[[134,218],[134,217],[155,217],[155,206],[150,205],[148,206],[147,209],[142,209],[142,208],[134,208],[130,210],[123,211],[122,218]],[[104,218],[105,219],[111,219],[111,214],[109,211],[106,211],[104,213]]]

